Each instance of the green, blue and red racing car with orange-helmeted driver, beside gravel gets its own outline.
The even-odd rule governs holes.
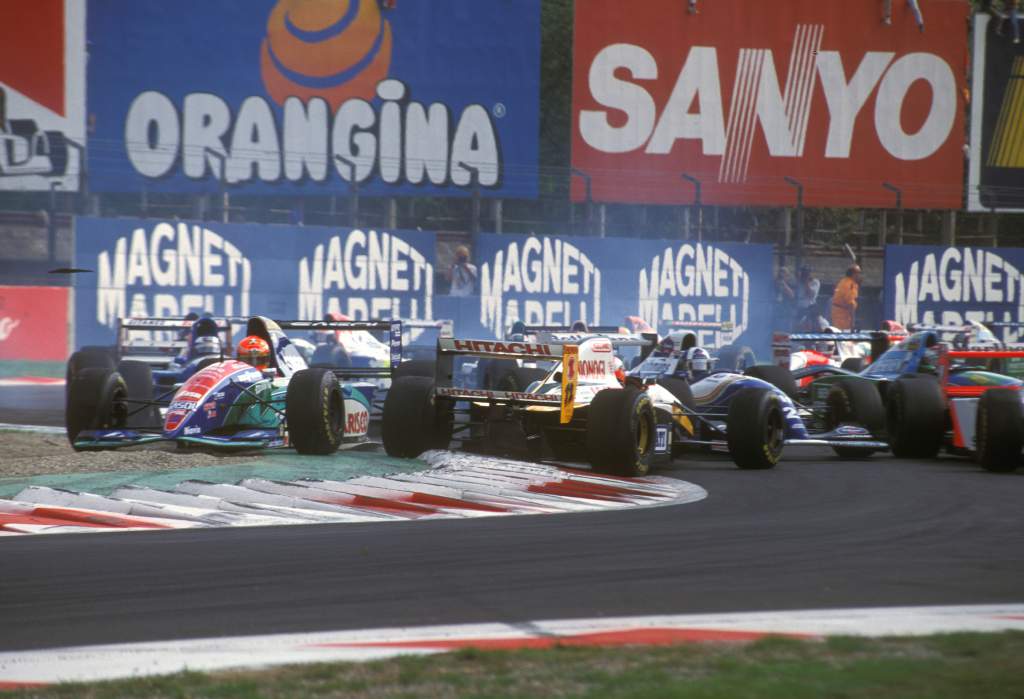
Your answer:
[[[375,386],[339,380],[381,378],[390,376],[390,369],[309,367],[284,330],[373,331],[382,325],[389,330],[391,360],[397,363],[398,321],[279,323],[254,316],[247,322],[247,341],[265,343],[263,363],[215,361],[172,389],[169,399],[153,397],[148,377],[122,376],[109,366],[80,368],[68,390],[68,437],[80,450],[173,441],[229,449],[294,446],[300,453],[317,454],[330,453],[344,441],[366,441]],[[145,387],[148,396],[133,397]],[[134,416],[153,408],[163,412],[162,424],[131,424]]]

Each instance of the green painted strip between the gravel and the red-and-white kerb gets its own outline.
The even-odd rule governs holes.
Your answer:
[[[380,452],[341,451],[331,456],[302,456],[295,452],[268,453],[258,460],[172,471],[106,471],[49,476],[0,478],[0,497],[12,497],[30,485],[108,495],[125,485],[171,490],[186,480],[237,483],[245,478],[293,481],[299,478],[346,480],[358,476],[386,476],[430,468],[415,458],[392,458]]]

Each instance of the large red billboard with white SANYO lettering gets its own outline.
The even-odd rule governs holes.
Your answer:
[[[969,5],[920,4],[581,0],[573,199],[959,208]]]

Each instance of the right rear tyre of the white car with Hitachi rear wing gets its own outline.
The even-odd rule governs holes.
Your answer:
[[[646,476],[657,429],[650,396],[632,386],[606,388],[587,410],[587,455],[594,471]]]

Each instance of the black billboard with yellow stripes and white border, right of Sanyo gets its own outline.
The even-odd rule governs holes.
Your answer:
[[[1024,44],[1009,25],[974,18],[970,211],[1024,211]]]

